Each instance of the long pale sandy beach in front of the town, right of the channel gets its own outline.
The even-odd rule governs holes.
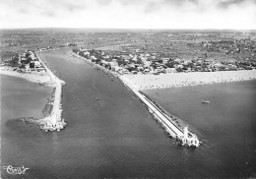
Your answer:
[[[122,80],[135,89],[167,89],[253,79],[256,79],[256,70],[122,76]]]

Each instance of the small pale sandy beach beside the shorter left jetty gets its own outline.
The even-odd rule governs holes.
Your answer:
[[[31,81],[33,83],[47,84],[51,81],[50,77],[46,73],[26,74],[26,73],[20,73],[20,72],[13,71],[12,68],[8,68],[8,67],[0,67],[0,74],[26,79],[26,80]]]

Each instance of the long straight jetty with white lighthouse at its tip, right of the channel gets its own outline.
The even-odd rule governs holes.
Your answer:
[[[183,129],[175,124],[175,121],[173,118],[165,114],[163,111],[160,110],[160,107],[158,107],[152,100],[150,100],[145,94],[140,92],[138,89],[133,88],[130,85],[130,82],[126,81],[126,78],[121,76],[118,73],[112,72],[110,70],[105,69],[104,67],[97,65],[96,63],[81,57],[80,55],[71,52],[72,55],[85,60],[87,63],[92,65],[96,70],[101,70],[104,73],[108,73],[118,79],[120,83],[126,88],[129,89],[138,100],[140,100],[144,106],[147,107],[149,112],[153,115],[153,117],[160,122],[160,125],[163,127],[166,134],[168,134],[170,137],[176,139],[180,142],[182,146],[185,147],[199,147],[201,142],[199,141],[198,137],[188,131],[188,127],[184,127]]]

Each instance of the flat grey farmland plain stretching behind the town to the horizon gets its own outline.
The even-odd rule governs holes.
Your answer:
[[[1,59],[28,49],[65,47],[75,43],[77,48],[96,48],[103,51],[123,53],[158,53],[160,57],[180,59],[220,60],[249,58],[256,59],[255,31],[204,31],[204,30],[75,30],[75,29],[34,29],[1,30]],[[250,39],[254,51],[224,53],[210,51],[202,44],[211,41]],[[251,49],[251,48],[250,48]]]

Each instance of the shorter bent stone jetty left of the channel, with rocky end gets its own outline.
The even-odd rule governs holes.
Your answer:
[[[60,131],[64,129],[67,125],[62,118],[62,86],[65,85],[65,82],[58,79],[51,70],[45,65],[45,63],[40,59],[38,53],[35,52],[35,55],[39,62],[43,65],[46,70],[46,73],[50,77],[51,82],[54,84],[55,91],[54,91],[54,100],[52,104],[52,109],[50,115],[41,119],[43,121],[40,129],[47,131]]]

